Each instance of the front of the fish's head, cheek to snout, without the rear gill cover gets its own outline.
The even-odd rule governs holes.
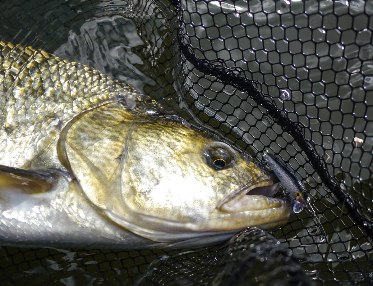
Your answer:
[[[184,231],[276,228],[288,220],[287,201],[272,198],[273,172],[231,145],[168,120],[142,124],[131,139],[122,194],[134,212]]]

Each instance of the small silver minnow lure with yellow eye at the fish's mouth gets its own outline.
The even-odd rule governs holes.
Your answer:
[[[272,168],[273,172],[275,172],[276,176],[289,193],[294,196],[296,201],[293,207],[294,213],[299,213],[305,206],[309,206],[310,198],[307,196],[307,191],[299,175],[267,150],[264,151],[263,159]]]

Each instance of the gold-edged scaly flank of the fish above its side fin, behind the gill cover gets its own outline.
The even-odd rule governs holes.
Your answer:
[[[119,96],[131,108],[158,106],[132,86],[83,64],[3,41],[0,47],[0,164],[63,168],[50,157],[56,156],[56,136],[76,114]]]

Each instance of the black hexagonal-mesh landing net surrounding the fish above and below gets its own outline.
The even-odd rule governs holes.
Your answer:
[[[274,232],[276,253],[265,249],[273,238],[249,231],[190,252],[1,248],[3,284],[269,285],[244,270],[272,257],[258,267],[284,285],[307,283],[295,258],[317,285],[370,285],[372,15],[361,0],[2,1],[4,41],[130,83],[258,159],[269,150],[302,177],[316,210]]]

